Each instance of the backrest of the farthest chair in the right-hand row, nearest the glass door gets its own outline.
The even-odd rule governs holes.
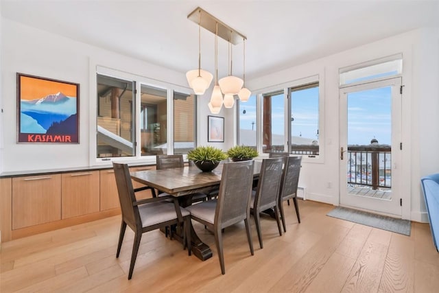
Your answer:
[[[297,196],[297,186],[299,183],[300,163],[302,156],[289,156],[283,168],[283,178],[281,184],[281,198]]]

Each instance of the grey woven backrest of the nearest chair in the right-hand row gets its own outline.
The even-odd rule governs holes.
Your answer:
[[[241,222],[250,215],[254,161],[224,163],[215,211],[220,228]]]

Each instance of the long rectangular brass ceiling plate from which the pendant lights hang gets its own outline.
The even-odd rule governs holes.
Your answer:
[[[228,25],[217,19],[215,16],[213,16],[209,12],[206,12],[200,7],[195,8],[193,12],[189,13],[187,18],[194,23],[197,23],[200,26],[204,27],[209,32],[217,34],[220,38],[224,38],[224,40],[232,43],[233,45],[237,45],[247,39],[246,36],[237,32],[232,27],[229,27]],[[217,30],[216,25],[218,25]]]

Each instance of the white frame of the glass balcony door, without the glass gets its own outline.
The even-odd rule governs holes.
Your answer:
[[[362,196],[349,197],[347,193],[347,178],[346,178],[346,159],[341,159],[341,148],[344,148],[346,154],[347,143],[347,97],[349,93],[355,93],[359,91],[367,91],[368,89],[377,89],[380,87],[392,86],[392,203],[381,202],[376,198],[366,198]],[[410,198],[403,192],[403,161],[402,150],[399,148],[399,144],[402,143],[402,78],[392,77],[380,80],[370,80],[368,82],[359,82],[355,84],[349,84],[340,87],[339,90],[339,109],[340,109],[340,139],[339,139],[339,168],[340,168],[340,193],[339,204],[346,207],[354,207],[355,209],[364,209],[366,211],[373,211],[375,213],[382,213],[384,215],[391,215],[393,217],[402,218],[403,208],[399,205],[399,199],[403,202],[407,202]],[[398,101],[399,99],[399,101]],[[396,121],[395,121],[396,119]],[[396,134],[396,135],[394,135]]]

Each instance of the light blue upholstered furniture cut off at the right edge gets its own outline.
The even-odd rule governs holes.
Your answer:
[[[425,176],[420,179],[420,182],[423,186],[431,235],[433,236],[434,246],[439,252],[439,173]]]

